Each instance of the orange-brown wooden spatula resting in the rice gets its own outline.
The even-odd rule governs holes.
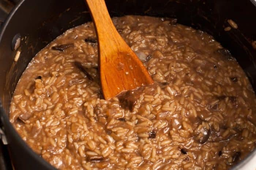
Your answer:
[[[118,34],[104,0],[85,0],[98,37],[99,71],[103,97],[152,84],[147,69]]]

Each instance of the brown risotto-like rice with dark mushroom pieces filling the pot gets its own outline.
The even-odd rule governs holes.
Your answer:
[[[93,23],[66,31],[33,58],[11,102],[10,121],[38,155],[61,170],[226,170],[255,148],[255,93],[228,50],[174,19],[113,22],[155,83],[105,101]]]

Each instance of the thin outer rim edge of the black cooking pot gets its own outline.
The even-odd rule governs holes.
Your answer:
[[[25,0],[20,0],[20,2],[18,4],[15,5],[15,7],[12,9],[12,11],[10,12],[10,14],[8,15],[7,19],[4,21],[1,31],[0,31],[0,44],[1,44],[1,40],[3,38],[3,35],[5,33],[5,30],[10,22],[10,20],[12,19],[12,16],[15,14],[15,12],[19,9],[19,7],[24,3]],[[252,4],[256,7],[256,0],[250,0],[252,2]],[[239,64],[239,63],[238,63]],[[1,99],[0,99],[0,121],[4,121],[4,124],[8,124],[8,126],[10,126],[10,130],[11,133],[14,134],[16,140],[18,140],[18,142],[20,143],[20,145],[25,148],[28,152],[29,155],[33,156],[34,159],[36,159],[38,162],[40,162],[41,164],[44,164],[46,166],[47,169],[49,170],[57,170],[55,169],[52,165],[50,165],[50,163],[48,163],[46,160],[44,160],[43,158],[41,158],[39,155],[37,155],[28,145],[27,143],[22,140],[22,138],[19,136],[18,132],[15,130],[15,128],[12,126],[11,122],[9,121],[9,118],[7,116],[7,114],[5,113],[4,109],[3,109],[3,105],[1,104]],[[8,144],[7,144],[8,145]],[[236,165],[234,165],[233,167],[231,167],[230,170],[239,170],[239,169],[245,169],[246,166],[248,168],[248,162],[251,163],[251,165],[255,165],[255,162],[253,162],[253,158],[256,158],[256,148],[254,148],[254,150],[252,152],[250,152],[248,155],[246,155],[246,157],[241,160],[239,163],[237,163]],[[250,166],[250,165],[249,165]],[[253,168],[253,167],[252,167]]]

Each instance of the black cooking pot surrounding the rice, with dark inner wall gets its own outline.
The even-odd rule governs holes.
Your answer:
[[[149,15],[177,18],[178,23],[211,34],[230,50],[256,90],[256,1],[244,0],[106,0],[111,16]],[[238,29],[225,31],[227,19]],[[19,137],[8,119],[15,86],[35,54],[65,30],[90,21],[83,0],[21,0],[0,34],[0,136],[16,170],[54,170]],[[20,57],[14,48],[21,38]],[[255,114],[255,113],[254,113]],[[255,170],[256,150],[233,167]]]

